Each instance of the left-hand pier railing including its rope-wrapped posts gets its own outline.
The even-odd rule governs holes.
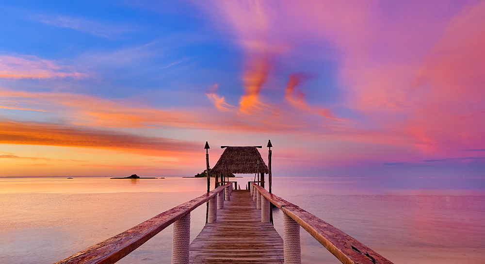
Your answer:
[[[190,212],[209,202],[208,222],[216,222],[217,207],[224,203],[225,196],[226,200],[229,198],[231,191],[232,183],[219,186],[55,264],[115,263],[171,224],[174,224],[172,264],[189,263]],[[219,203],[216,196],[219,196]]]

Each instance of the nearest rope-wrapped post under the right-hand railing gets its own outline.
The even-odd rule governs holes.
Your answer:
[[[301,264],[300,225],[283,213],[283,255],[285,264]]]

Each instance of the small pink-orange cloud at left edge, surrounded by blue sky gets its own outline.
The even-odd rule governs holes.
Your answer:
[[[21,58],[0,55],[0,78],[44,79],[86,76],[87,74],[76,72],[72,66],[60,66],[55,61],[43,60],[35,56]]]

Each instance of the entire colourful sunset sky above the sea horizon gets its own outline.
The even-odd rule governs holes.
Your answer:
[[[485,177],[485,1],[2,1],[0,177]],[[484,188],[481,186],[479,188]]]

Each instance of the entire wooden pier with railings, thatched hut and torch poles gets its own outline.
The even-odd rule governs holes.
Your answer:
[[[267,147],[272,147],[271,142]],[[205,148],[210,175],[207,142]],[[392,264],[350,235],[271,193],[271,169],[261,159],[260,146],[222,148],[226,150],[212,169],[216,175],[213,190],[208,177],[207,193],[56,264],[113,264],[172,224],[172,264],[301,264],[300,228],[343,264]],[[248,190],[238,190],[237,184],[226,181],[226,173],[254,173],[255,180],[248,182]],[[270,191],[264,188],[264,173],[268,173]],[[206,203],[207,223],[190,244],[190,213]],[[270,222],[271,204],[282,212],[283,239]]]

